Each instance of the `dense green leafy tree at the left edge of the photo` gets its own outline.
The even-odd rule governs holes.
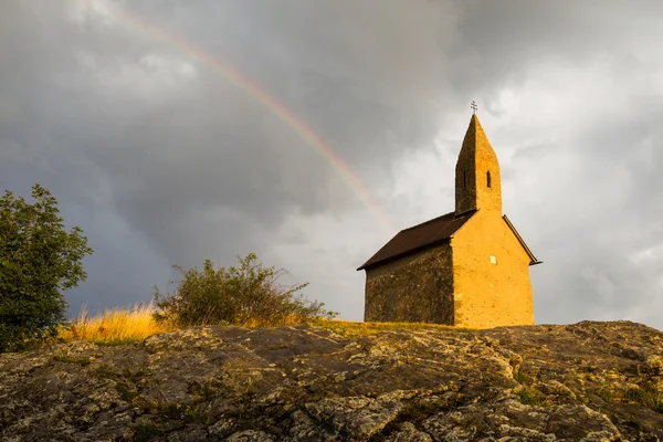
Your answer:
[[[34,185],[32,198],[0,198],[0,352],[56,336],[67,308],[61,292],[86,280],[81,261],[93,253],[80,228],[66,233],[49,190]]]

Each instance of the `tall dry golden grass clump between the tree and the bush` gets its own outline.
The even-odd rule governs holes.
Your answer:
[[[88,317],[85,307],[70,327],[63,327],[59,337],[65,341],[87,340],[95,344],[124,344],[143,340],[158,333],[171,332],[167,323],[157,323],[152,304],[138,304],[131,309],[107,309]]]

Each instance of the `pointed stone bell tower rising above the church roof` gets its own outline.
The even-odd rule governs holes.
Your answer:
[[[455,170],[455,214],[482,209],[502,215],[502,180],[497,156],[476,115],[463,139]]]

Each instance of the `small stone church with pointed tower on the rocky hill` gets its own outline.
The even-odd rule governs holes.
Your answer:
[[[476,115],[455,168],[455,210],[401,230],[366,271],[366,322],[471,328],[534,324],[534,256],[502,214],[497,156]]]

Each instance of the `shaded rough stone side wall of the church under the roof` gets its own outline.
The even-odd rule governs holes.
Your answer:
[[[449,243],[367,271],[364,320],[453,325]]]

